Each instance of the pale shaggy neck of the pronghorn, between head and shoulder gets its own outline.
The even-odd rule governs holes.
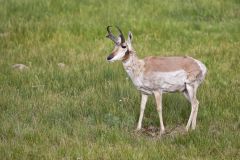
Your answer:
[[[133,81],[139,77],[144,70],[144,62],[137,57],[135,51],[129,51],[129,57],[123,61],[123,66]]]

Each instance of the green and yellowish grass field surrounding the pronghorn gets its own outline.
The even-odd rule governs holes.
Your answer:
[[[134,132],[140,94],[121,62],[106,62],[107,25],[131,30],[141,58],[206,64],[195,131]],[[237,159],[239,61],[239,0],[0,0],[0,159]],[[163,107],[167,130],[186,125],[182,95],[164,95]],[[153,98],[149,126],[159,126]]]

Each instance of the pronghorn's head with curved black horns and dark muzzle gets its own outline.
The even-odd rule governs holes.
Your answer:
[[[117,27],[119,31],[119,36],[115,37],[112,32],[110,31],[110,27],[107,27],[107,32],[108,35],[106,36],[107,38],[111,39],[115,43],[115,47],[112,51],[112,53],[107,57],[107,60],[109,62],[114,62],[117,60],[127,60],[129,57],[130,52],[133,50],[132,49],[132,33],[128,33],[128,39],[125,41],[125,38],[123,36],[123,33],[119,27]]]

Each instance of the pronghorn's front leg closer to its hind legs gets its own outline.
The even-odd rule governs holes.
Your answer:
[[[160,134],[164,134],[165,128],[163,125],[163,117],[162,117],[162,91],[155,91],[154,96],[156,99],[157,112],[158,112],[159,119],[160,119]]]

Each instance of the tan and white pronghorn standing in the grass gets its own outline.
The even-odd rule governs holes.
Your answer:
[[[122,61],[124,69],[142,95],[137,130],[142,127],[148,95],[153,94],[160,119],[160,134],[163,134],[165,128],[162,117],[162,94],[176,91],[182,92],[191,103],[191,113],[186,130],[188,131],[190,125],[192,129],[195,129],[199,105],[196,97],[197,88],[205,78],[206,66],[188,56],[150,56],[139,59],[132,47],[132,33],[128,33],[128,39],[125,41],[122,31],[118,27],[119,37],[112,34],[110,27],[107,27],[108,35],[106,37],[115,43],[115,48],[107,60],[109,62]]]

